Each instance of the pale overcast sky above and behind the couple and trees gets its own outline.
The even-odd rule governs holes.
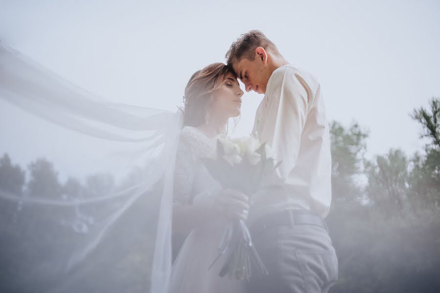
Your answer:
[[[329,120],[370,131],[372,157],[422,149],[409,113],[440,96],[439,15],[437,0],[0,0],[0,39],[111,101],[174,110],[193,72],[260,29],[319,79]],[[262,98],[245,93],[234,135],[249,134]],[[25,164],[36,155],[14,134],[40,120],[0,107],[0,152]]]

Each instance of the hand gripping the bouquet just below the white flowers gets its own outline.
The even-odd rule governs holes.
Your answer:
[[[232,220],[246,220],[249,212],[248,197],[237,190],[223,189],[215,197],[214,209]]]

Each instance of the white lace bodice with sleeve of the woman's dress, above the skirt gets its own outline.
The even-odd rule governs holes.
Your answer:
[[[219,187],[200,158],[215,151],[215,138],[208,138],[197,128],[185,126],[180,132],[174,174],[174,202],[190,204],[194,198]]]

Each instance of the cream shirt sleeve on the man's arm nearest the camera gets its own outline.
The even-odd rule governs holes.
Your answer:
[[[307,83],[293,68],[280,68],[273,74],[260,137],[269,142],[274,157],[282,161],[277,172],[286,179],[297,162],[311,94]]]

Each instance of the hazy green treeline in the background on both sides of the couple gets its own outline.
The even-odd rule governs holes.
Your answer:
[[[339,261],[339,281],[331,293],[440,292],[439,98],[411,116],[427,141],[423,152],[392,149],[371,160],[364,156],[367,131],[355,122],[348,127],[330,123],[332,205],[326,221]],[[121,186],[109,174],[90,175],[84,183],[75,178],[60,182],[44,158],[31,162],[27,172],[7,154],[0,158],[0,190],[20,196],[103,196],[142,176],[143,170],[133,170]],[[47,212],[1,200],[0,292],[146,292],[154,247],[148,238],[154,231],[147,229],[157,213],[146,210],[146,198],[133,204],[106,236],[104,241],[114,246],[98,248],[87,267],[64,278],[56,273],[60,264],[44,256],[57,259],[73,248],[103,207]],[[44,231],[36,229],[42,222]],[[53,231],[65,231],[66,237],[53,239]],[[53,272],[52,279],[47,271]]]

